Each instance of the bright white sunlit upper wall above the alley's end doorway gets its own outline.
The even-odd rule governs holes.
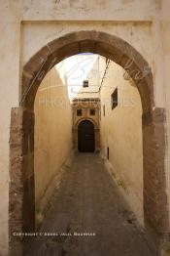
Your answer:
[[[64,84],[68,86],[69,98],[98,97],[98,55],[83,53],[71,56],[56,64],[58,73]],[[90,75],[92,69],[92,75]],[[88,87],[84,88],[84,80]],[[89,92],[91,94],[89,94]]]

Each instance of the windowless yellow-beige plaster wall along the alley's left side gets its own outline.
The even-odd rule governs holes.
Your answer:
[[[35,199],[37,217],[40,217],[49,199],[51,182],[72,149],[72,112],[68,91],[55,67],[39,87],[34,110]]]

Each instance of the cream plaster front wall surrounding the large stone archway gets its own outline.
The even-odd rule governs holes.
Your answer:
[[[169,5],[169,0],[0,0],[1,255],[8,254],[10,112],[19,104],[22,64],[68,31],[99,29],[118,35],[152,65],[155,106],[166,107],[170,138]],[[169,149],[170,140],[167,142]],[[168,178],[170,150],[166,154]]]

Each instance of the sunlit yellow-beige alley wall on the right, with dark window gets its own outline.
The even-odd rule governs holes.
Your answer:
[[[100,91],[101,154],[106,159],[108,171],[143,225],[142,106],[137,88],[124,79],[124,72],[122,67],[111,62]],[[117,87],[119,106],[112,109],[111,94]]]

